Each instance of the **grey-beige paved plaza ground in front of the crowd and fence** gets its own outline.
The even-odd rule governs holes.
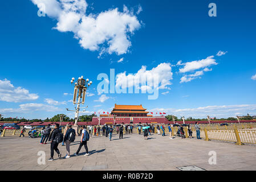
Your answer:
[[[71,154],[79,146],[80,137],[71,145]],[[0,137],[0,170],[179,170],[177,167],[197,166],[206,170],[256,170],[256,146],[237,146],[197,139],[175,138],[153,134],[148,140],[143,135],[125,134],[123,139],[113,135],[91,137],[89,156],[84,147],[78,156],[69,159],[50,158],[50,143],[29,137]],[[60,146],[62,156],[66,146]],[[46,164],[38,164],[38,151],[46,152]],[[217,154],[217,164],[210,165],[210,151]]]

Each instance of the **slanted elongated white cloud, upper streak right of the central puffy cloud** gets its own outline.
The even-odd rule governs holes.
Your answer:
[[[180,73],[190,72],[194,71],[196,69],[206,68],[210,65],[217,65],[216,60],[213,59],[214,56],[209,56],[206,59],[197,60],[197,61],[191,61],[184,63],[185,66],[180,69]]]

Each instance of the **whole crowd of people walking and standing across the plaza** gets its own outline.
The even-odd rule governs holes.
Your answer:
[[[188,129],[188,137],[192,138],[192,128],[190,125],[170,125],[168,124],[168,130],[169,130],[169,139],[173,139],[172,137],[172,127],[178,126],[178,130],[176,135],[181,138],[185,138],[185,132],[184,132],[184,126]],[[119,139],[123,139],[123,133],[125,134],[132,134],[133,133],[133,125],[116,125],[115,131],[117,135],[119,135]],[[143,133],[144,139],[147,140],[148,136],[151,135],[151,133],[155,133],[155,127],[157,130],[157,134],[160,135],[162,133],[162,137],[165,136],[165,126],[164,125],[152,125],[152,124],[139,124],[135,125],[135,127],[138,130],[139,135]],[[198,126],[198,122],[196,122],[196,125],[194,126],[196,128],[196,134],[197,139],[200,138],[200,127]],[[23,127],[21,130],[21,136],[25,136],[25,128]],[[102,132],[100,132],[102,131]],[[78,156],[81,148],[84,146],[86,150],[86,156],[89,155],[87,142],[94,136],[105,136],[108,137],[109,140],[112,140],[114,128],[112,125],[103,125],[103,126],[82,126],[80,129],[80,140],[79,140],[79,147],[78,150],[74,153],[75,156]],[[29,131],[29,137],[32,137],[38,130],[35,128],[30,129]],[[54,129],[51,129],[50,124],[46,127],[43,127],[40,131],[40,144],[47,144],[47,141],[51,143],[50,146],[50,154],[51,157],[48,160],[54,160],[54,151],[58,154],[58,159],[61,158],[62,154],[60,154],[60,151],[58,149],[59,143],[62,143],[62,146],[66,145],[66,151],[67,154],[64,156],[64,158],[70,158],[70,144],[75,141],[76,131],[72,129],[71,125],[66,125],[64,129],[64,133],[62,134],[62,128],[59,126],[58,123],[55,124]]]

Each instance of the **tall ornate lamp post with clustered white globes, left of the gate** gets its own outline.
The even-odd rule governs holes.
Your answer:
[[[86,100],[86,90],[92,84],[92,81],[89,81],[87,78],[84,80],[83,76],[79,77],[78,80],[74,83],[75,78],[73,77],[71,80],[71,84],[75,85],[74,95],[73,95],[73,104],[76,104],[75,107],[75,124],[73,128],[78,134],[78,115],[80,110],[80,104],[84,104]],[[68,110],[68,109],[67,109]]]

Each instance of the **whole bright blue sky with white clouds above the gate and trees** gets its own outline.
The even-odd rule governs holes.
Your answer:
[[[65,108],[74,107],[70,80],[81,75],[93,81],[85,114],[111,111],[115,104],[142,104],[148,111],[178,117],[256,115],[255,1],[80,0],[58,10],[46,3],[46,16],[38,16],[44,2],[57,1],[1,3],[4,117],[74,117]],[[212,2],[216,17],[208,15]],[[90,20],[97,20],[92,31],[95,22]],[[127,28],[121,31],[121,26]],[[109,77],[115,69],[127,78],[143,66],[148,72],[141,74],[161,77],[156,100],[148,100],[148,93],[98,94],[100,73]]]

